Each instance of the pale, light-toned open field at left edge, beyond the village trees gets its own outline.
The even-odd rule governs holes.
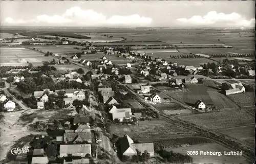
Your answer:
[[[52,57],[45,57],[25,48],[0,48],[0,65],[28,65],[31,62],[34,66],[42,65],[45,61],[51,61]],[[17,54],[17,56],[15,55]]]

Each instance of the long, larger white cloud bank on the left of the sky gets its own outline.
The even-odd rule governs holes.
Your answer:
[[[34,19],[30,20],[14,20],[11,17],[7,17],[5,22],[8,24],[72,24],[72,25],[134,25],[145,26],[150,25],[152,18],[143,17],[138,14],[122,16],[113,15],[107,18],[104,14],[98,13],[94,10],[82,10],[80,7],[72,7],[66,10],[62,15],[38,15]]]

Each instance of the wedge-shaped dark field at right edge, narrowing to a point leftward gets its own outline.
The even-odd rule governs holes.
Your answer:
[[[252,124],[233,128],[216,129],[215,131],[242,140],[243,142],[248,143],[248,146],[254,148],[254,128],[255,125]]]

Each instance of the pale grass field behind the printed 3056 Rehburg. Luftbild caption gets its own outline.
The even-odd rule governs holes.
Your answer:
[[[172,151],[176,153],[181,153],[183,155],[187,155],[187,151],[211,151],[211,152],[221,152],[221,156],[215,156],[215,155],[189,155],[193,158],[193,163],[225,163],[225,164],[231,164],[231,163],[243,163],[243,164],[249,164],[251,162],[247,161],[246,158],[243,156],[226,156],[224,155],[224,151],[229,152],[232,151],[230,149],[227,149],[217,143],[206,143],[206,144],[197,144],[197,145],[191,145],[189,147],[179,147],[172,149]]]

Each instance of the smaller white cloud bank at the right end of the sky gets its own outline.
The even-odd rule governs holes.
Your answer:
[[[210,11],[204,16],[194,15],[191,18],[178,18],[178,22],[184,25],[225,25],[233,27],[254,27],[255,19],[245,19],[238,13],[217,13]]]

